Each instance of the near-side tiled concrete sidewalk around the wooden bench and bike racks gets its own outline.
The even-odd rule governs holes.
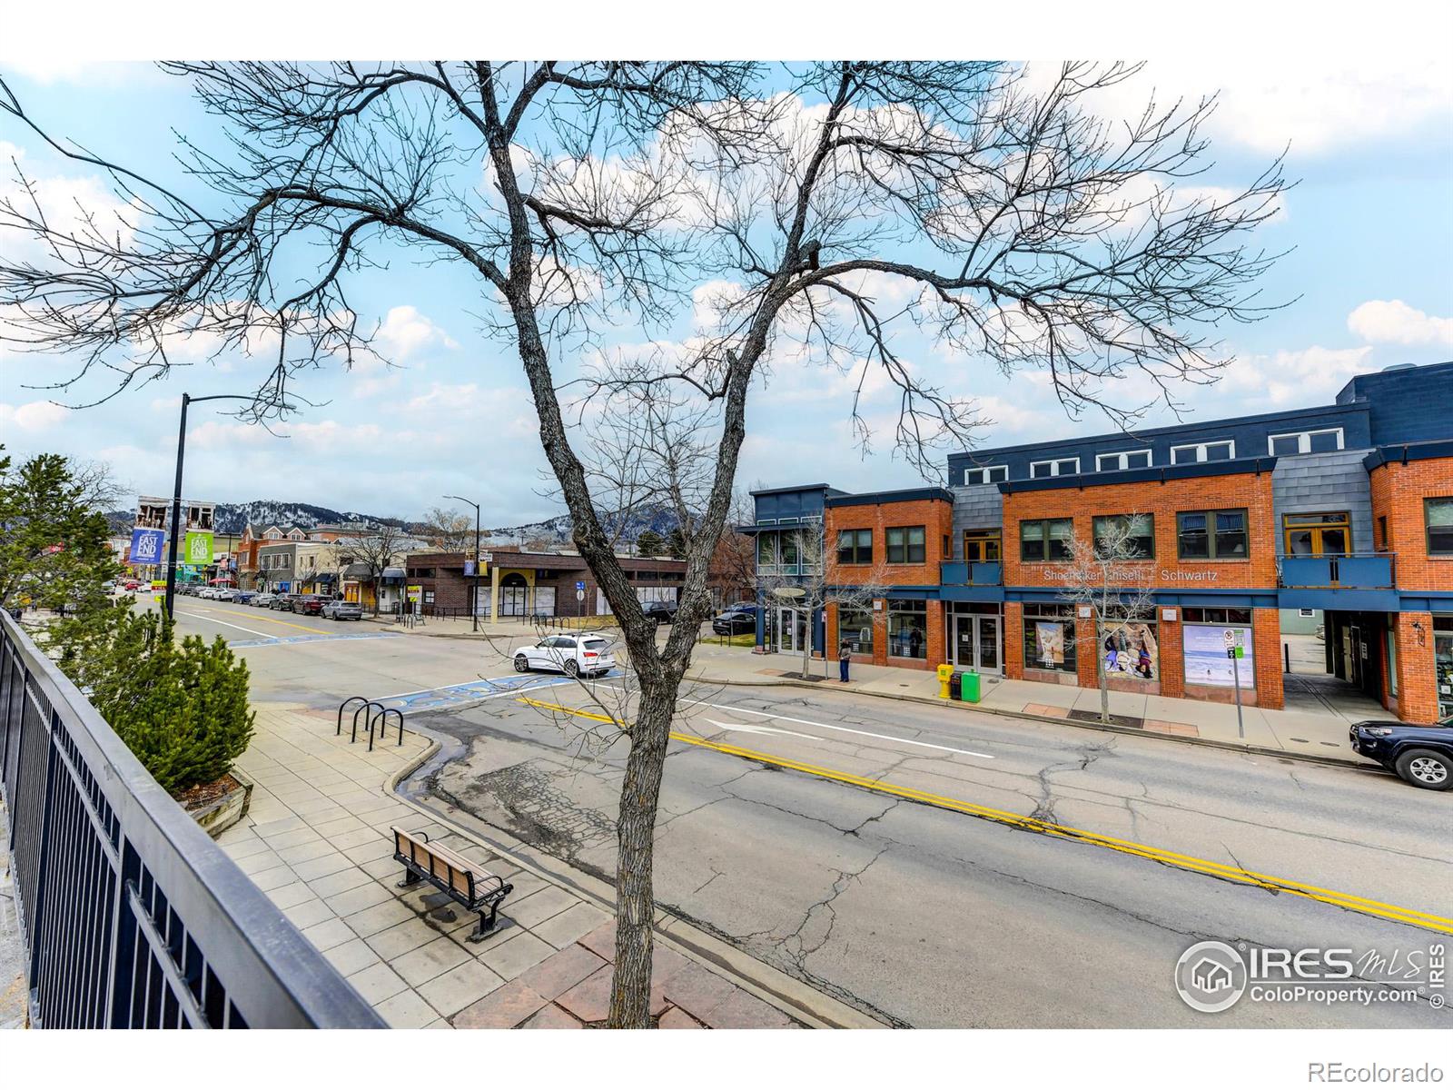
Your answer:
[[[256,782],[251,810],[219,837],[238,866],[391,1026],[600,1025],[615,952],[609,900],[395,795],[392,785],[434,751],[432,740],[407,731],[400,747],[395,732],[369,753],[366,741],[350,744],[347,731],[334,730],[331,712],[257,705],[257,732],[238,762]],[[488,939],[466,942],[475,914],[427,885],[395,887],[395,825],[421,830],[514,885]],[[876,1025],[825,996],[830,1020],[799,1007],[789,1014],[761,987],[689,949],[657,939],[651,1010],[661,1028]]]

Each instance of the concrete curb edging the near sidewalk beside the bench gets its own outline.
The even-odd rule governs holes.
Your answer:
[[[442,814],[433,807],[401,795],[398,785],[413,776],[440,750],[440,743],[432,732],[423,731],[418,727],[411,727],[410,731],[427,738],[430,746],[384,780],[384,791],[388,792],[389,798],[395,798],[411,810],[429,817],[430,821],[436,821],[453,833],[479,843],[481,847],[487,847],[503,859],[509,859],[513,865],[565,887],[587,903],[596,904],[603,911],[609,911],[612,919],[615,917],[615,887],[609,882],[603,882],[593,875],[577,871],[564,860],[538,852],[474,814],[458,810],[452,810],[450,814]],[[468,818],[471,824],[479,825],[488,836],[465,827],[461,818]],[[744,991],[812,1029],[888,1028],[878,1019],[857,1010],[857,1007],[841,1003],[812,985],[772,968],[766,962],[738,950],[731,943],[703,932],[660,907],[655,910],[655,940],[683,956],[702,962],[706,968],[726,977]]]

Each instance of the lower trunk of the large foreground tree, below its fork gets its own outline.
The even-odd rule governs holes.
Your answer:
[[[620,785],[616,824],[616,968],[610,981],[610,1028],[651,1028],[651,946],[655,919],[652,846],[665,767],[665,744],[681,674],[641,679],[641,706],[631,728],[631,756]]]

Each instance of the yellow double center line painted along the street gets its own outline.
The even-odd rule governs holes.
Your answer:
[[[599,712],[587,712],[580,708],[565,708],[558,703],[548,703],[545,701],[532,701],[529,698],[519,698],[520,703],[533,705],[536,708],[546,708],[555,712],[564,712],[565,715],[575,715],[584,719],[594,719],[597,722],[618,722],[609,715],[600,715]],[[1077,840],[1084,844],[1091,844],[1094,847],[1104,847],[1112,852],[1120,852],[1123,855],[1139,856],[1141,859],[1149,859],[1152,863],[1162,863],[1165,866],[1174,866],[1181,871],[1191,871],[1194,873],[1207,875],[1210,878],[1221,878],[1228,882],[1237,882],[1239,885],[1254,885],[1261,889],[1267,889],[1279,894],[1292,894],[1295,897],[1305,897],[1309,901],[1321,901],[1322,904],[1331,904],[1337,908],[1347,908],[1354,913],[1364,913],[1367,916],[1376,916],[1383,920],[1392,920],[1393,923],[1407,923],[1414,927],[1425,927],[1433,932],[1443,932],[1446,934],[1453,934],[1453,920],[1444,916],[1434,916],[1433,913],[1417,911],[1415,908],[1404,908],[1396,904],[1388,904],[1385,901],[1373,901],[1367,897],[1357,897],[1356,894],[1344,894],[1337,889],[1324,889],[1322,887],[1308,885],[1306,882],[1295,882],[1289,878],[1277,878],[1274,875],[1264,875],[1255,871],[1247,871],[1239,866],[1226,866],[1225,863],[1216,863],[1210,859],[1200,859],[1197,856],[1189,856],[1181,852],[1170,852],[1164,847],[1151,847],[1149,844],[1138,844],[1133,840],[1120,840],[1119,837],[1109,837],[1100,833],[1090,833],[1084,828],[1074,828],[1071,825],[1061,825],[1053,821],[1040,821],[1039,818],[1024,817],[1023,814],[1014,814],[1008,810],[995,810],[994,807],[981,807],[976,802],[965,802],[963,799],[949,798],[947,795],[934,795],[927,791],[918,791],[917,788],[905,788],[897,783],[886,783],[881,779],[869,779],[866,776],[854,776],[849,772],[838,772],[837,769],[824,769],[818,764],[806,764],[799,760],[789,760],[788,757],[777,757],[770,753],[760,753],[757,750],[745,750],[740,746],[728,746],[719,741],[709,741],[700,738],[695,734],[681,734],[680,731],[671,731],[673,741],[683,741],[687,746],[700,746],[702,748],[716,750],[718,753],[725,753],[731,757],[741,757],[742,760],[761,762],[763,764],[773,764],[779,769],[792,769],[793,772],[802,772],[808,776],[818,776],[821,779],[835,780],[838,783],[847,783],[854,788],[863,788],[866,791],[876,791],[883,795],[894,795],[897,798],[910,799],[912,802],[923,802],[924,805],[939,807],[940,810],[952,810],[959,814],[968,814],[969,817],[976,817],[984,821],[994,821],[1000,825],[1008,825],[1011,828],[1023,828],[1030,833],[1042,833],[1043,836],[1061,837],[1064,840]]]

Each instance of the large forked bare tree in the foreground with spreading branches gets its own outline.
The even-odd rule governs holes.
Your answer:
[[[225,141],[182,140],[186,196],[51,138],[0,84],[0,112],[108,171],[124,209],[48,217],[22,177],[0,231],[45,256],[0,247],[0,336],[78,374],[112,368],[118,389],[166,375],[179,340],[266,352],[244,413],[263,420],[298,403],[296,371],[372,352],[347,288],[382,265],[381,243],[478,279],[485,331],[519,355],[575,545],[639,682],[613,1026],[649,1025],[657,799],[754,382],[809,360],[862,389],[881,368],[898,400],[888,429],[926,474],[976,416],[904,356],[905,326],[966,362],[1045,371],[1072,411],[1133,419],[1144,403],[1119,404],[1110,379],[1133,374],[1167,398],[1171,379],[1209,381],[1226,362],[1209,331],[1261,312],[1254,285],[1273,259],[1248,235],[1284,187],[1273,164],[1244,189],[1178,190],[1209,161],[1199,129],[1215,103],[1097,118],[1135,65],[1069,64],[1043,86],[985,62],[163,67],[193,83]],[[315,266],[299,265],[308,254]],[[705,414],[709,487],[681,519],[680,621],[658,647],[559,389],[575,360],[612,355],[610,331],[664,330],[697,302],[687,340],[581,376],[587,401],[655,388]],[[857,398],[851,411],[866,445]]]

